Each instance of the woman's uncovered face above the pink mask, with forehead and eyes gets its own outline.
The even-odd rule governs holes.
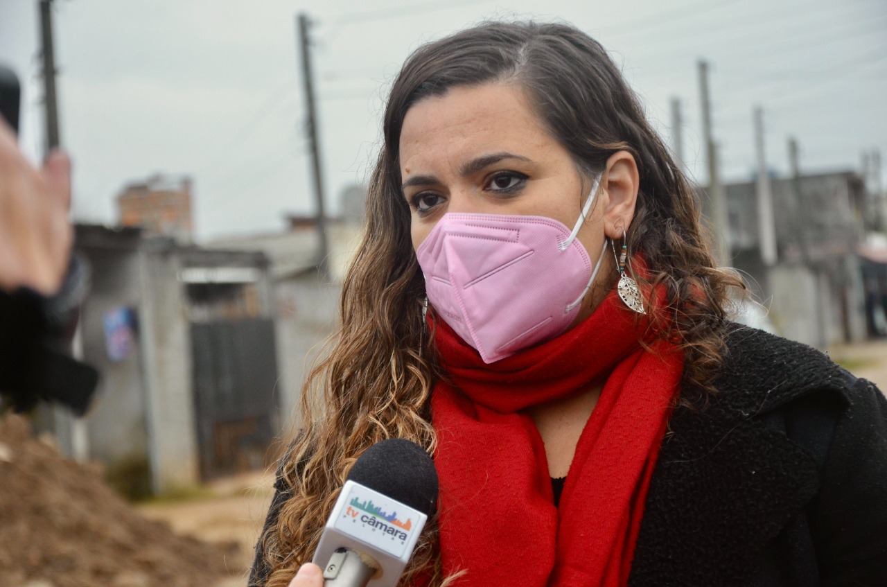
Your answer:
[[[631,163],[636,176],[633,159]],[[413,249],[449,212],[546,216],[571,230],[591,188],[569,152],[532,112],[523,91],[497,83],[455,87],[413,105],[401,130],[400,167],[412,211]],[[593,263],[603,247],[613,204],[608,181],[602,184],[577,235]],[[633,209],[632,199],[632,214]],[[631,217],[617,222],[627,228]],[[609,228],[615,233],[615,226]],[[605,265],[601,274],[607,269]],[[589,303],[583,304],[580,319],[596,305],[591,299],[600,296],[586,297]]]

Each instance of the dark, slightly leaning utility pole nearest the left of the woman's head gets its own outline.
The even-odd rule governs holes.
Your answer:
[[[326,259],[329,254],[329,245],[326,235],[326,212],[324,210],[324,181],[320,166],[320,146],[318,145],[318,118],[314,107],[314,82],[311,74],[310,26],[311,23],[308,15],[301,12],[296,20],[296,27],[299,35],[299,47],[302,53],[302,82],[305,88],[305,106],[308,118],[306,127],[311,149],[314,197],[318,208],[318,271],[320,272],[320,278],[326,281],[330,277],[329,264]]]

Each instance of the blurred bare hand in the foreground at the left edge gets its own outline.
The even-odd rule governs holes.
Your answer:
[[[74,241],[68,220],[71,161],[53,151],[32,166],[0,118],[0,289],[29,287],[54,294],[65,277]]]

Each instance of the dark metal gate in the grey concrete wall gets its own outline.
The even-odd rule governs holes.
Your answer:
[[[277,433],[271,319],[192,323],[191,340],[201,476],[262,467]]]

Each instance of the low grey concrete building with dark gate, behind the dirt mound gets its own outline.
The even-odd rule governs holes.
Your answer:
[[[135,495],[265,466],[280,431],[265,255],[127,227],[75,238],[92,268],[82,357],[101,373],[88,457]]]

